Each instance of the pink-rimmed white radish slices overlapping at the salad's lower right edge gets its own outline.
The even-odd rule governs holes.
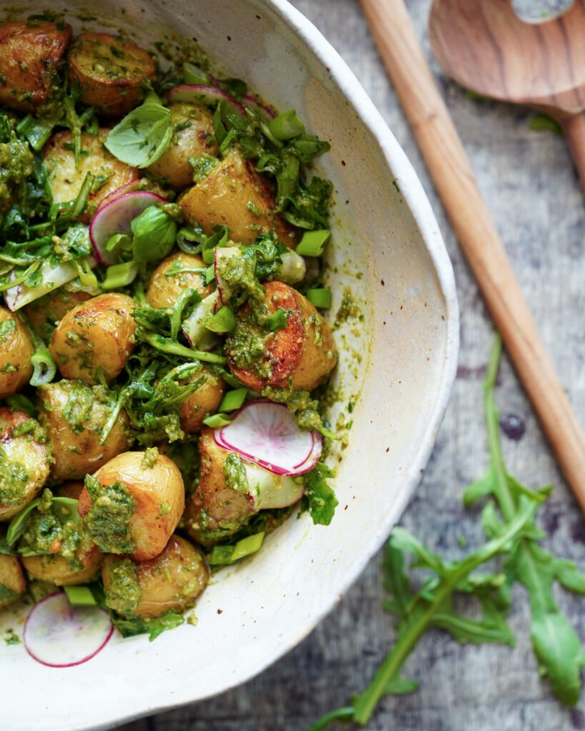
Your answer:
[[[319,433],[301,431],[287,406],[272,401],[246,404],[229,424],[214,430],[214,439],[274,474],[290,476],[312,469],[322,450]]]

